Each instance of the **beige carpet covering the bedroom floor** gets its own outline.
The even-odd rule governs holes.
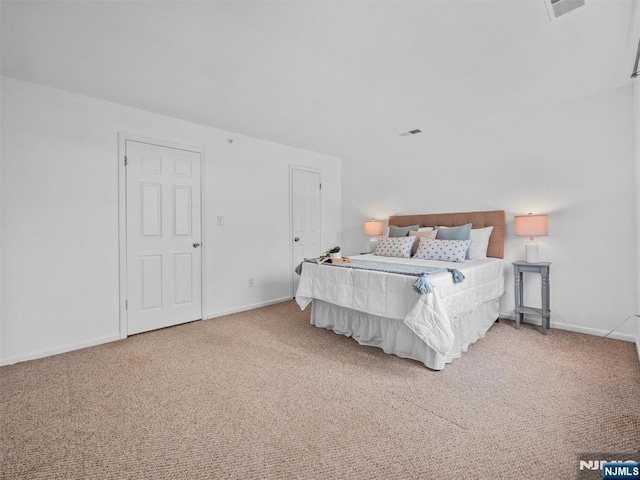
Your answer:
[[[0,478],[575,478],[640,445],[631,343],[501,321],[442,372],[293,302],[0,369]],[[597,477],[596,477],[597,478]]]

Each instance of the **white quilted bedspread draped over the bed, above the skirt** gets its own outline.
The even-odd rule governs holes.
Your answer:
[[[451,319],[504,293],[501,259],[465,263],[358,255],[351,258],[457,268],[465,275],[454,283],[449,272],[428,277],[432,292],[413,289],[416,277],[304,263],[296,302],[304,310],[316,298],[371,315],[403,320],[422,341],[445,357],[453,345]]]

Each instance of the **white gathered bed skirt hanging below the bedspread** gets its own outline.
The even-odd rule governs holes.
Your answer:
[[[445,364],[466,352],[470,344],[484,337],[498,319],[499,311],[500,299],[494,298],[452,319],[454,343],[446,357],[420,340],[402,320],[369,315],[322,300],[313,300],[311,324],[353,337],[360,345],[378,347],[385,353],[411,358],[433,370],[442,370]]]

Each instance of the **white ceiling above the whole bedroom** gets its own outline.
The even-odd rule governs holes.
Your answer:
[[[627,85],[640,2],[2,2],[2,73],[357,157]]]

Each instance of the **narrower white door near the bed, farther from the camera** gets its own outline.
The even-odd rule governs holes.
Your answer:
[[[292,264],[318,257],[320,250],[320,173],[291,169]],[[293,276],[293,294],[299,277]]]

